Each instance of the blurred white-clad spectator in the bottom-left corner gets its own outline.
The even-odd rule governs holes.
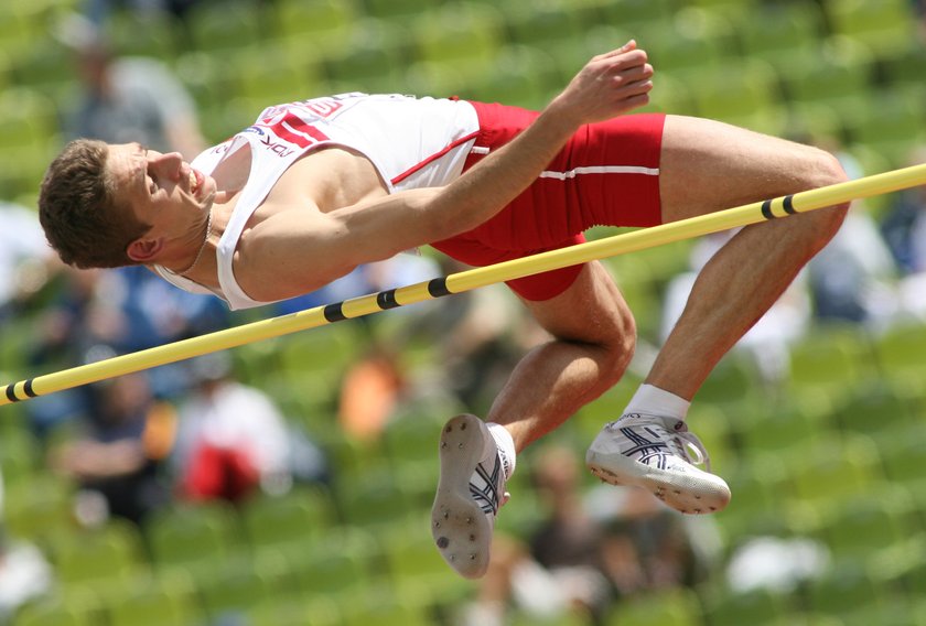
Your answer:
[[[0,473],[0,624],[8,624],[20,606],[52,589],[52,568],[26,541],[7,535],[3,517],[3,475]]]

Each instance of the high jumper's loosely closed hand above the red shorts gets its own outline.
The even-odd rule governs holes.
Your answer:
[[[575,126],[611,119],[649,102],[653,66],[631,40],[592,57],[549,105]]]

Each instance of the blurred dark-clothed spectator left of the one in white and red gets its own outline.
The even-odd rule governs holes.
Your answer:
[[[163,462],[173,446],[176,413],[151,393],[144,374],[89,387],[95,403],[86,432],[51,454],[51,466],[77,482],[77,519],[97,525],[110,516],[140,524],[170,501]]]

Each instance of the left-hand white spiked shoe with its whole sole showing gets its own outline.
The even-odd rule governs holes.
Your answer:
[[[431,535],[444,561],[467,579],[488,569],[498,508],[508,501],[506,463],[485,422],[452,418],[441,432],[441,478],[431,509]]]

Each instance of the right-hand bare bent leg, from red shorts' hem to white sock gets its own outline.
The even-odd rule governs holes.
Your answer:
[[[668,116],[659,192],[664,222],[839,183],[816,148],[711,120]],[[720,358],[836,235],[847,206],[747,226],[703,268],[647,382],[691,400]]]

